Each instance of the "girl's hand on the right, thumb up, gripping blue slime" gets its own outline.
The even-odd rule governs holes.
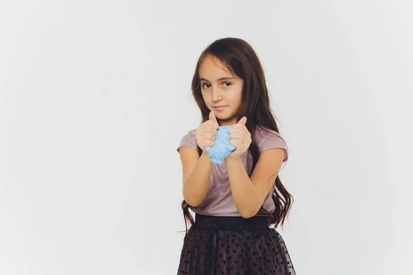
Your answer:
[[[229,137],[231,140],[229,141],[229,144],[237,147],[235,148],[234,151],[231,152],[227,157],[230,158],[239,158],[240,155],[246,152],[248,150],[252,140],[251,140],[251,133],[246,129],[245,126],[246,123],[246,117],[242,117],[240,121],[237,124],[233,124],[231,128],[229,129]],[[234,139],[237,140],[234,140]]]

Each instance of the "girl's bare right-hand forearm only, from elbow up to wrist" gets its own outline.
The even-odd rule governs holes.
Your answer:
[[[225,158],[231,193],[235,206],[244,218],[253,217],[260,210],[260,194],[248,177],[242,160]]]

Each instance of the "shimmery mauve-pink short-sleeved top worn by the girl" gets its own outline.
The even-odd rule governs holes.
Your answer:
[[[191,147],[195,150],[198,148],[198,145],[196,144],[195,131],[196,129],[193,129],[189,131],[189,133],[184,135],[184,137],[182,137],[182,140],[177,149],[178,153],[179,148],[182,146]],[[255,131],[255,142],[257,142],[258,152],[262,153],[263,151],[271,148],[283,148],[285,151],[283,162],[286,162],[286,160],[288,159],[288,148],[286,146],[286,142],[284,142],[282,137],[276,131],[268,131],[270,131],[270,133],[262,130],[261,128],[258,128],[257,131]],[[246,153],[241,155],[241,160],[246,169],[246,173],[251,177],[253,157],[249,149],[246,151]],[[268,192],[268,195],[263,203],[264,209],[268,210],[268,212],[271,213],[275,210],[274,201],[271,197],[274,190],[275,184],[273,184],[273,186],[271,187],[271,190],[270,192]],[[210,216],[241,216],[233,201],[225,162],[222,162],[222,164],[213,163],[207,196],[199,206],[191,206],[190,208],[195,213]]]

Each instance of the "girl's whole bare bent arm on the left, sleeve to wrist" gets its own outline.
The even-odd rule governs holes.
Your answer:
[[[180,148],[182,162],[182,195],[190,206],[196,207],[207,196],[213,163],[207,151],[201,157],[191,147]]]

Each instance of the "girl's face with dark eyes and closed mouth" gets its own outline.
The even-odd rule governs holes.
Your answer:
[[[207,56],[200,65],[202,98],[210,111],[215,111],[220,126],[237,123],[244,80],[234,76],[215,56]]]

